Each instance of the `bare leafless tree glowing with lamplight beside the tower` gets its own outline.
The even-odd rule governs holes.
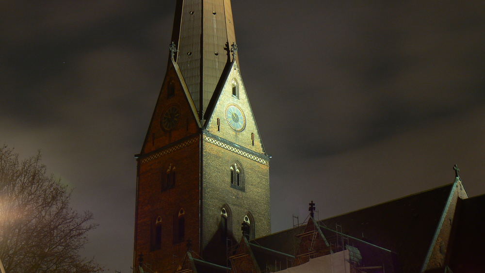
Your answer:
[[[0,259],[7,273],[93,273],[79,255],[93,214],[69,206],[70,192],[46,174],[40,152],[20,161],[0,147]]]

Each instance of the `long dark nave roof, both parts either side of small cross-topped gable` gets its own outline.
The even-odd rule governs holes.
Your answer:
[[[392,265],[396,271],[397,266],[404,272],[419,272],[452,187],[453,184],[448,184],[412,194],[321,220],[319,224],[326,227],[322,231],[327,238],[332,236],[331,230],[340,225],[343,234],[356,239],[351,240],[351,244],[361,249],[368,265],[382,262]],[[302,227],[296,227],[253,241],[294,255],[298,244],[293,238],[301,232]]]

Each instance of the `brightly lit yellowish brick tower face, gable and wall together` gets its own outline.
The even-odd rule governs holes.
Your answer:
[[[237,82],[237,97],[233,96],[233,83]],[[226,121],[227,105],[236,104],[244,112],[246,121],[242,131],[236,131]],[[217,123],[219,119],[219,124]],[[242,78],[234,63],[212,116],[208,120],[203,135],[203,249],[224,246],[218,235],[221,221],[220,210],[227,205],[232,211],[232,235],[234,241],[241,239],[243,217],[249,212],[254,217],[252,228],[256,237],[271,232],[269,158],[264,154],[258,128],[242,83]],[[252,144],[254,135],[254,145]],[[244,189],[231,187],[229,167],[237,162],[242,166]],[[225,254],[224,252],[222,253]],[[206,258],[218,262],[210,251],[204,251]],[[214,254],[215,256],[215,254]],[[221,259],[222,260],[222,259]]]

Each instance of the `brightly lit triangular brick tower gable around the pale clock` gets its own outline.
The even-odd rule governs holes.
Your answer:
[[[236,88],[236,96],[233,95],[234,86]],[[233,62],[226,71],[226,80],[219,93],[214,94],[214,96],[213,107],[209,108],[209,116],[205,128],[218,137],[266,155],[236,62]],[[244,116],[245,123],[241,130],[231,127],[231,121],[226,114],[227,111],[231,111],[229,110],[230,106],[238,108]]]

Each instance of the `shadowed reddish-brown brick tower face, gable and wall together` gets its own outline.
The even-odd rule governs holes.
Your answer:
[[[175,93],[168,97],[170,82]],[[180,120],[177,127],[165,131],[161,117],[173,105],[180,110]],[[138,264],[138,256],[143,253],[154,272],[173,272],[187,251],[185,241],[174,243],[173,226],[180,208],[185,210],[185,240],[192,240],[194,250],[200,248],[200,134],[172,64],[167,69],[142,153],[138,159],[134,263]],[[176,168],[176,184],[162,191],[162,180],[166,179],[170,164]],[[162,244],[160,250],[152,250],[150,244],[158,216],[162,218]]]

